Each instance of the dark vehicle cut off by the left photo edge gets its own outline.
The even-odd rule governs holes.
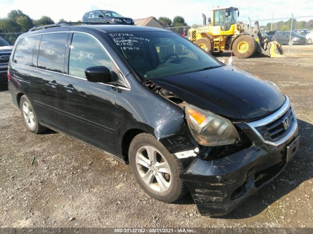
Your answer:
[[[0,85],[7,85],[8,64],[13,46],[0,37]]]

